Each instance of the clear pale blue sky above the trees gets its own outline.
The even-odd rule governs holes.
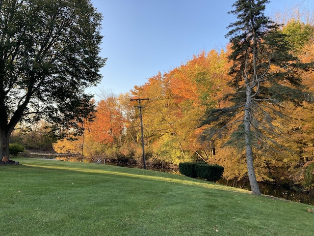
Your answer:
[[[97,88],[126,93],[135,85],[185,63],[202,50],[224,49],[228,14],[235,0],[91,0],[104,15],[101,56],[108,58]],[[271,0],[265,14],[294,6],[313,7],[312,0]]]

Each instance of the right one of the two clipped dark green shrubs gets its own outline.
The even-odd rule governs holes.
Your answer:
[[[218,165],[198,164],[195,166],[197,177],[216,182],[222,177],[224,168]]]

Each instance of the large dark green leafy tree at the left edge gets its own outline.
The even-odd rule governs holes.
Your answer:
[[[101,20],[90,0],[0,0],[0,158],[19,121],[82,130],[94,110],[84,90],[105,65]]]

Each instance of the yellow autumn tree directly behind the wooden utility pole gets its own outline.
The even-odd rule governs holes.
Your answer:
[[[150,149],[155,149],[153,152],[155,153],[153,156],[158,161],[165,161],[165,159],[171,160],[171,155],[169,153],[172,152],[173,146],[169,145],[169,149],[167,152],[163,153],[163,156],[159,156],[160,152],[159,148],[156,146],[157,143],[165,136],[168,136],[169,132],[169,123],[165,118],[167,111],[170,107],[173,106],[171,102],[171,93],[169,93],[169,89],[165,85],[163,75],[158,72],[156,76],[153,76],[148,79],[148,82],[143,86],[135,86],[134,89],[131,90],[131,95],[138,98],[149,98],[149,101],[143,102],[142,109],[142,120],[144,126],[144,143],[145,143],[145,152],[147,153],[148,159],[150,155],[148,154]],[[172,107],[174,108],[174,107]],[[176,110],[176,109],[174,109]],[[132,134],[134,143],[137,146],[140,146],[141,140],[141,131],[140,131],[140,117],[139,110],[133,110],[132,122],[130,123],[130,132],[135,131]]]

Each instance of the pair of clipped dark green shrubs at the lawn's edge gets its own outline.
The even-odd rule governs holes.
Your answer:
[[[209,165],[204,162],[182,162],[179,164],[179,171],[182,175],[196,178],[205,178],[208,181],[216,182],[222,177],[224,168],[219,165]]]

